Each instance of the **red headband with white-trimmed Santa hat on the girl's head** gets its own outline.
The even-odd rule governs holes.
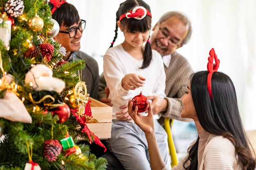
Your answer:
[[[119,17],[119,21],[124,19],[124,17],[134,18],[136,20],[142,20],[144,17],[146,17],[146,15],[149,15],[150,17],[152,17],[151,13],[148,11],[148,9],[139,6],[139,7],[135,7],[134,9],[132,9],[132,11],[129,11],[128,13],[121,15]]]

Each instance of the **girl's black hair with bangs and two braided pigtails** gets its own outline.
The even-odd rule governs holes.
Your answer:
[[[117,39],[117,31],[118,31],[117,21],[119,21],[119,17],[121,15],[131,11],[134,7],[138,7],[138,6],[142,6],[146,9],[148,9],[148,11],[150,12],[150,7],[143,0],[126,0],[125,2],[120,4],[120,7],[116,13],[117,18],[116,18],[115,37],[113,39],[113,42],[111,43],[110,48],[113,47],[113,44],[114,44],[115,40]],[[149,15],[146,15],[146,17],[144,17],[144,19],[142,19],[142,20],[136,20],[134,18],[128,19],[128,18],[124,17],[124,19],[121,20],[121,25],[123,26],[123,28],[126,28],[127,32],[144,33],[151,29],[151,17]],[[151,50],[150,43],[148,41],[146,42],[143,56],[144,56],[143,64],[142,64],[141,68],[147,68],[152,59],[152,50]]]

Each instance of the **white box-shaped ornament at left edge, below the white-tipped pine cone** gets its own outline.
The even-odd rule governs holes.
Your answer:
[[[0,39],[4,42],[4,46],[9,46],[11,40],[11,21],[3,21],[0,18]]]

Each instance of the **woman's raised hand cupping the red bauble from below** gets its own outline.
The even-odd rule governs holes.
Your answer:
[[[134,120],[134,122],[144,131],[145,133],[152,133],[154,131],[154,118],[151,108],[151,103],[148,107],[148,116],[142,116],[140,113],[137,113],[138,107],[135,107],[135,110],[132,111],[132,101],[128,102],[128,113]]]

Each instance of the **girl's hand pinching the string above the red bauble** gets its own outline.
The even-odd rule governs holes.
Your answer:
[[[146,78],[137,74],[126,74],[122,79],[122,87],[125,90],[135,90],[136,88],[143,87]]]

